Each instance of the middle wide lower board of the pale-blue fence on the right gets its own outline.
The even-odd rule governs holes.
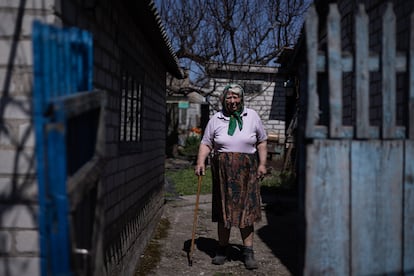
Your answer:
[[[401,271],[403,141],[351,144],[352,275]]]

